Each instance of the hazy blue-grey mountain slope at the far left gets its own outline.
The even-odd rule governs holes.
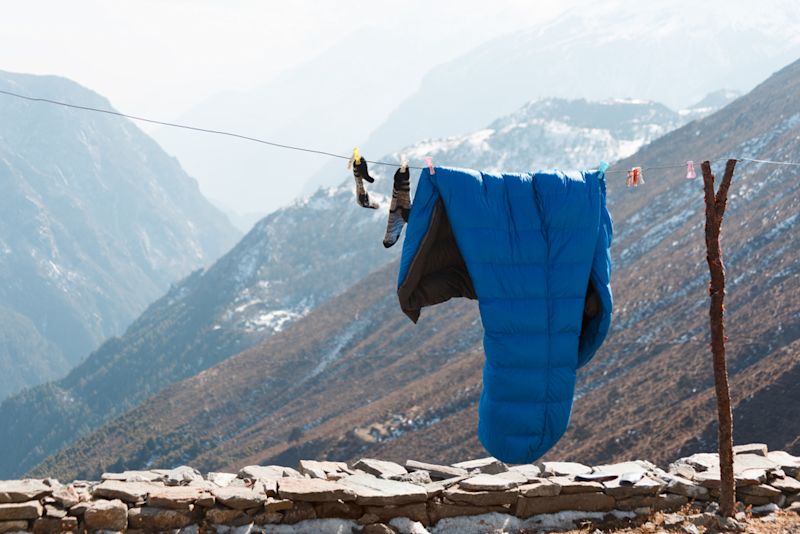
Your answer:
[[[111,107],[53,76],[0,72],[0,89]],[[13,312],[0,331],[0,399],[62,376],[238,235],[131,122],[6,95],[0,188],[0,307]],[[31,329],[24,354],[8,344]]]

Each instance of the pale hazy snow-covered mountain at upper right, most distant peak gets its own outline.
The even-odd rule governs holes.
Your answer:
[[[383,153],[476,130],[532,98],[626,97],[682,109],[748,91],[800,57],[795,0],[586,2],[432,69],[363,143]],[[330,168],[314,178],[331,183]],[[325,181],[327,180],[327,181]]]

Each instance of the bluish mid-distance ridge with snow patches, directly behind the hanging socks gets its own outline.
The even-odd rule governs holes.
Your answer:
[[[625,156],[682,120],[649,102],[541,100],[476,134],[422,142],[405,152],[476,167],[585,167]],[[378,180],[369,190],[382,209],[356,205],[351,177],[270,214],[213,267],[176,285],[64,380],[0,406],[0,428],[12,436],[0,475],[21,473],[162,387],[255,345],[394,259],[400,246],[382,245],[387,169],[372,172]]]

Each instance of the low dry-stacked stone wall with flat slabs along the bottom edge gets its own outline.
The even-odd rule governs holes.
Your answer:
[[[800,508],[799,457],[760,444],[736,453],[743,505]],[[454,465],[304,460],[298,469],[254,465],[206,476],[181,466],[70,484],[0,482],[0,533],[315,532],[333,519],[338,532],[435,532],[448,518],[488,513],[530,527],[554,517],[600,521],[677,510],[713,501],[718,488],[716,454],[682,458],[666,470],[640,460],[507,466],[494,458]]]

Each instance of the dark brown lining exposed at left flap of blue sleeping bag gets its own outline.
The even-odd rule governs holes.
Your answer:
[[[412,208],[413,209],[413,208]],[[475,288],[441,199],[431,213],[428,231],[397,288],[400,308],[415,323],[420,310],[454,297],[475,299]]]

